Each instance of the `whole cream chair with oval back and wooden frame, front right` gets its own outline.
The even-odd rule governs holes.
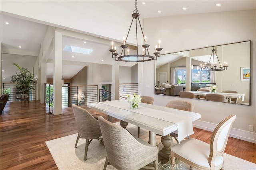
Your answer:
[[[198,139],[190,138],[174,145],[169,156],[171,168],[175,158],[188,164],[190,169],[219,170],[224,169],[223,153],[228,142],[228,135],[236,119],[236,115],[229,115],[214,129],[210,145]]]

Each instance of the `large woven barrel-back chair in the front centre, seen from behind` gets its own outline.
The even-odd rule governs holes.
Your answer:
[[[137,170],[147,168],[151,162],[154,169],[157,169],[157,147],[132,136],[126,129],[107,121],[102,116],[98,119],[107,152],[103,170],[106,170],[109,164],[119,170]]]

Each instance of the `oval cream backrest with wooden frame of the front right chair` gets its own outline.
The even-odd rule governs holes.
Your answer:
[[[214,167],[215,159],[217,156],[223,156],[224,150],[228,142],[231,127],[236,120],[236,115],[229,115],[222,120],[214,129],[210,141],[210,155],[208,162],[210,167]]]

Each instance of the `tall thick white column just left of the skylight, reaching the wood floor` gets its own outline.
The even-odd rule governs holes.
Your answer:
[[[62,114],[62,33],[54,33],[53,114]]]

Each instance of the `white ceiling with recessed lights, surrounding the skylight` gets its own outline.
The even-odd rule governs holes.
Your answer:
[[[100,1],[98,1],[100,3]],[[140,18],[154,18],[163,16],[176,16],[176,15],[188,15],[198,13],[209,12],[224,12],[235,10],[250,10],[255,9],[255,0],[146,0],[146,4],[141,4],[143,1],[137,2],[137,9],[140,12]],[[132,14],[135,8],[135,1],[131,0],[119,0],[108,1],[108,3],[122,8]],[[220,3],[222,6],[215,6]],[[186,7],[187,10],[182,10]],[[161,13],[158,13],[161,11]],[[115,16],[116,17],[116,16]],[[5,22],[9,24],[6,25]],[[31,54],[38,53],[40,49],[40,43],[42,42],[48,25],[36,23],[32,21],[26,21],[12,16],[4,15],[1,13],[1,48],[11,51],[10,54],[2,54],[2,79],[3,82],[9,82],[9,78],[17,70],[12,63],[18,63],[22,67],[27,67],[32,70],[32,65],[36,60],[36,57]],[[99,44],[96,42],[89,42],[82,39],[71,39],[70,37],[63,37],[63,47],[65,45],[75,45],[78,47],[84,47],[93,49],[90,55],[80,55],[78,53],[71,53],[63,51],[63,77],[72,78],[84,65],[83,62],[88,63],[104,63],[112,64],[111,53],[108,51],[109,45]],[[18,46],[22,46],[21,49]],[[20,55],[14,55],[14,52]],[[74,58],[72,58],[74,56]],[[51,55],[52,57],[52,55]],[[50,57],[50,58],[51,58]],[[103,61],[102,61],[103,60]],[[74,61],[78,61],[78,64],[73,64]],[[69,64],[72,63],[72,64]],[[136,63],[121,63],[120,65],[133,65]],[[53,64],[47,64],[47,78],[53,77]]]

